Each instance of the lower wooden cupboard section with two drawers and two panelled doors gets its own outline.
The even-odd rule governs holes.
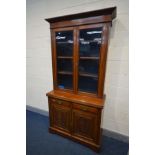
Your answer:
[[[50,131],[95,149],[100,148],[101,109],[49,98]]]

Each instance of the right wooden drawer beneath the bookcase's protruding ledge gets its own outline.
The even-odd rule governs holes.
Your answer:
[[[92,113],[98,112],[97,108],[89,107],[89,106],[85,106],[85,105],[81,105],[81,104],[73,104],[73,108],[78,109],[78,110],[92,112]]]

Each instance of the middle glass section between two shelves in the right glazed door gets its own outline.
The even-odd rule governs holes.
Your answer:
[[[98,74],[98,60],[79,60],[79,72]]]

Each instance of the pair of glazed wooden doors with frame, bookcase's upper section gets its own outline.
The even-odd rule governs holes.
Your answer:
[[[95,24],[52,30],[54,89],[102,97],[108,27]]]

